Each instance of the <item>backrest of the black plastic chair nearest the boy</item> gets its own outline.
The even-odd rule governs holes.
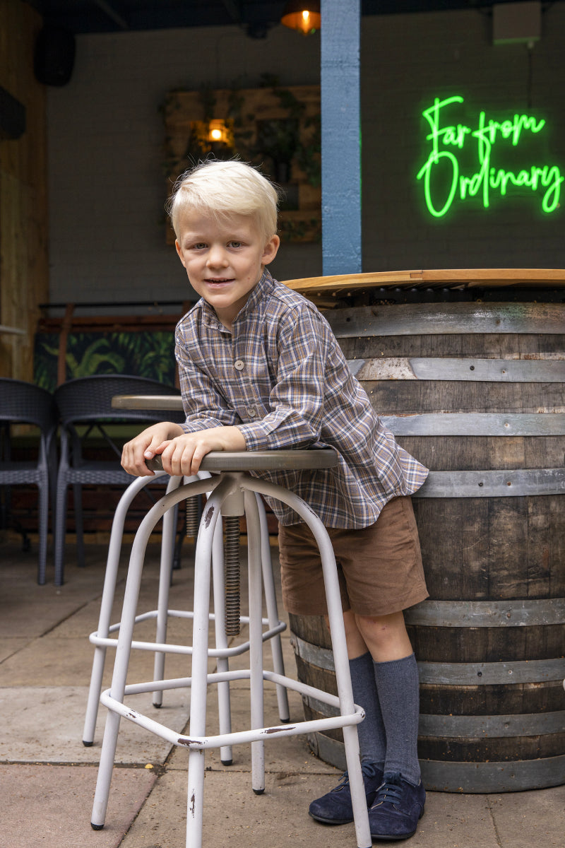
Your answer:
[[[54,398],[64,424],[93,421],[185,421],[182,412],[163,410],[114,410],[112,398],[116,394],[178,394],[174,386],[164,386],[146,377],[129,377],[124,374],[76,377],[55,389]]]

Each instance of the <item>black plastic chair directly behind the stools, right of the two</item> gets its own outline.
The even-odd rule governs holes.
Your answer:
[[[122,445],[114,433],[108,433],[108,425],[154,424],[156,421],[185,421],[182,412],[170,410],[118,410],[112,408],[112,398],[117,394],[178,394],[173,386],[165,386],[144,377],[128,377],[122,374],[78,377],[59,386],[54,393],[61,419],[60,449],[58,466],[57,506],[55,520],[55,585],[64,582],[64,541],[67,518],[67,488],[75,491],[75,527],[77,561],[85,562],[82,491],[81,487],[94,485],[129,486],[135,479],[119,465]],[[114,451],[114,460],[86,458],[83,443],[92,433],[101,436]]]

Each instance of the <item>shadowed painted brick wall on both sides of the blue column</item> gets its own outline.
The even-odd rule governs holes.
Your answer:
[[[363,270],[565,266],[562,212],[540,220],[530,197],[518,213],[454,204],[450,220],[432,220],[415,179],[427,155],[424,104],[461,93],[493,117],[527,111],[526,48],[494,47],[479,11],[373,16],[362,31]],[[555,121],[551,158],[563,173],[564,54],[565,3],[556,3],[534,48],[530,98]],[[282,85],[318,82],[319,37],[279,26],[259,41],[231,27],[77,38],[73,77],[48,96],[52,302],[187,297],[164,242],[159,106],[177,86],[253,86],[263,73]],[[280,279],[319,275],[321,248],[287,246],[272,268]]]

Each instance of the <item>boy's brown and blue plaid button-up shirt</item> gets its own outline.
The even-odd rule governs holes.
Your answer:
[[[339,465],[252,472],[300,495],[326,527],[368,527],[427,470],[396,444],[319,310],[268,271],[232,332],[201,298],[176,327],[185,432],[235,425],[248,450],[334,448]],[[299,516],[269,499],[282,524]]]

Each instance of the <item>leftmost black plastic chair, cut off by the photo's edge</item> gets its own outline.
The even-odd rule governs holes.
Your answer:
[[[57,410],[53,395],[31,382],[0,378],[0,422],[3,439],[0,446],[0,486],[30,483],[39,489],[39,561],[37,583],[43,585],[47,570],[47,532],[49,499],[54,505],[57,458],[55,430]],[[11,431],[14,424],[32,424],[39,428],[36,460],[13,460]],[[54,512],[53,512],[54,514]]]

